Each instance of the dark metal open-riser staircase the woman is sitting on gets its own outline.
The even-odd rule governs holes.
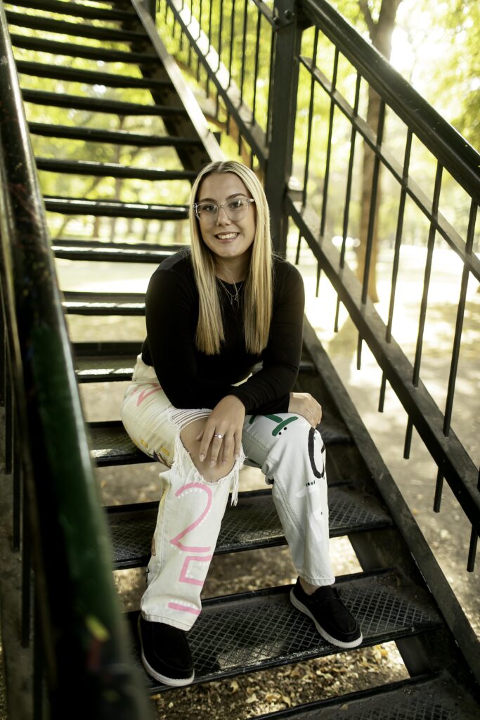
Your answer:
[[[141,4],[136,7],[127,1],[6,3],[10,37],[19,55],[17,71],[21,84],[27,85],[22,89],[23,101],[27,108],[44,108],[45,120],[38,122],[32,112],[29,122],[33,147],[40,150],[35,157],[37,171],[55,176],[57,180],[52,186],[65,189],[45,194],[45,210],[53,228],[58,228],[58,216],[113,217],[135,222],[184,220],[186,206],[182,202],[128,202],[111,195],[105,199],[81,197],[76,190],[78,177],[188,184],[204,163],[221,156],[191,91],[184,86],[175,63],[155,34],[153,22]],[[89,60],[88,69],[76,68],[76,58]],[[60,89],[29,89],[25,83],[28,78],[58,82]],[[78,84],[78,94],[65,92],[64,83]],[[99,87],[108,89],[107,98],[99,96],[96,90]],[[114,99],[115,89],[121,91],[119,99]],[[148,91],[150,99],[127,102],[129,91]],[[71,124],[50,122],[51,108],[66,109]],[[73,110],[91,114],[89,122],[79,125]],[[155,117],[164,131],[149,134],[119,130],[116,119],[131,116]],[[107,118],[112,119],[110,125]],[[60,152],[45,157],[41,150],[43,138],[99,146],[168,146],[176,151],[178,162],[176,167],[160,169],[91,161],[90,156],[73,160],[61,157]],[[141,242],[138,236],[132,241],[130,236],[117,233],[114,242],[109,242],[86,239],[79,234],[78,238],[55,238],[52,252],[56,258],[85,261],[92,268],[97,261],[138,262],[151,263],[153,270],[176,250],[178,245],[173,240],[173,236],[167,235],[166,244],[158,245]],[[143,296],[129,292],[64,292],[62,297],[63,310],[68,315],[142,316],[145,309]],[[138,351],[137,343],[132,342],[76,343],[73,347],[76,379],[79,383],[125,381],[130,378]],[[363,645],[397,642],[412,677],[328,701],[318,698],[316,703],[268,717],[473,720],[478,717],[478,687],[468,667],[470,658],[459,649],[442,608],[422,577],[422,563],[430,564],[431,568],[435,560],[307,321],[297,385],[299,390],[321,398],[324,408],[321,429],[328,446],[330,535],[348,536],[363,567],[361,573],[338,579],[340,593],[361,622]],[[90,423],[89,437],[91,459],[99,467],[150,462],[132,444],[119,420]],[[148,562],[156,509],[157,503],[106,508],[115,569],[143,567]],[[417,557],[407,545],[408,538],[417,542]],[[270,491],[241,492],[237,508],[227,510],[216,553],[284,543]],[[448,594],[446,583],[442,585],[438,572],[445,603],[450,603],[453,612],[457,607],[461,612],[451,591]],[[27,593],[26,588],[24,592]],[[189,634],[195,683],[335,652],[316,634],[307,618],[291,606],[288,593],[289,587],[265,588],[206,600]],[[137,613],[128,614],[135,653],[136,618]],[[5,647],[7,681],[9,652],[13,652],[12,647]],[[40,665],[35,666],[35,673],[41,675]],[[146,676],[145,686],[149,693],[175,692]],[[41,683],[40,689],[39,683],[35,687],[40,696],[42,693],[48,696],[48,688],[42,689]],[[40,706],[41,701],[36,707]],[[75,716],[74,710],[71,716]],[[129,717],[134,716],[140,720],[137,714]],[[12,713],[11,717],[16,716]],[[42,717],[40,711],[37,717]],[[91,717],[97,717],[95,711]]]

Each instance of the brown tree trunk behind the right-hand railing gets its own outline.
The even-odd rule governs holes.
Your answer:
[[[358,0],[363,16],[366,19],[368,32],[373,46],[379,50],[387,60],[391,55],[391,35],[395,27],[397,10],[402,0],[382,0],[379,19],[374,22],[366,0]],[[368,109],[367,123],[376,133],[379,126],[380,97],[369,86],[368,87]],[[373,181],[373,167],[375,154],[373,150],[363,143],[363,168],[362,168],[362,192],[361,192],[361,217],[360,217],[360,245],[357,253],[357,276],[363,282],[365,274],[366,243],[368,237],[368,221],[371,207],[371,190]],[[376,259],[379,248],[379,208],[381,203],[381,166],[379,167],[378,188],[376,194],[375,212],[373,215],[373,233],[370,269],[368,273],[368,296],[373,302],[378,302],[379,295],[376,290]]]

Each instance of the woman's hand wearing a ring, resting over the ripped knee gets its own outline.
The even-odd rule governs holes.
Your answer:
[[[245,420],[245,405],[235,395],[226,395],[215,405],[205,423],[202,433],[196,438],[200,442],[199,459],[207,458],[210,467],[226,465],[240,456],[242,431]]]

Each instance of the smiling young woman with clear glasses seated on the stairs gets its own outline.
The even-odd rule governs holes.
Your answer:
[[[272,487],[299,578],[291,603],[338,647],[362,636],[328,555],[322,408],[292,392],[302,351],[304,289],[272,257],[266,197],[240,163],[211,163],[192,188],[191,249],[150,279],[147,338],[122,406],[137,446],[168,466],[142,597],[145,669],[168,685],[194,679],[186,631],[230,490],[243,462]],[[261,369],[253,370],[262,362]]]

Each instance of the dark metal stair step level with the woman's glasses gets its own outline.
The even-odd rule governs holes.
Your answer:
[[[79,197],[44,195],[45,209],[63,215],[95,215],[104,217],[141,217],[144,220],[186,220],[185,205],[148,205],[117,200],[83,200]]]

